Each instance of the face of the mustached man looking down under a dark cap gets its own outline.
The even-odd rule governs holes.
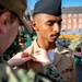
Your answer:
[[[56,39],[59,37],[61,30],[60,16],[39,13],[35,15],[34,22],[37,36],[40,38],[48,42],[56,42]]]

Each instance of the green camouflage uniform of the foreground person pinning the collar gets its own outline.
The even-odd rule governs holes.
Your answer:
[[[49,69],[48,69],[49,68]],[[0,82],[62,82],[61,77],[52,66],[48,65],[44,68],[45,74],[51,74],[50,77],[46,77],[43,73],[35,74],[33,70],[28,72],[24,71],[23,69],[13,70],[3,59],[0,57]],[[47,70],[48,69],[48,70]],[[46,71],[47,70],[47,71]],[[50,73],[48,73],[51,71]],[[51,77],[56,77],[55,80],[50,79]],[[56,80],[57,79],[57,80]]]

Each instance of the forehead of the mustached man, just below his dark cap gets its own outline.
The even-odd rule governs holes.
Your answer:
[[[61,16],[56,16],[56,15],[50,15],[50,14],[45,14],[45,13],[37,13],[34,16],[34,20],[36,21],[49,21],[49,20],[60,21]]]

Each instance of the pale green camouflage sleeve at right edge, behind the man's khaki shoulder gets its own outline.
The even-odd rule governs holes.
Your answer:
[[[82,47],[82,37],[74,39],[70,45],[69,48],[73,51],[78,51],[79,48]]]

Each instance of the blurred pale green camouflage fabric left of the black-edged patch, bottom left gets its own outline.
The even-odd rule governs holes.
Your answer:
[[[34,82],[35,73],[23,69],[13,70],[7,62],[0,63],[0,82]]]

